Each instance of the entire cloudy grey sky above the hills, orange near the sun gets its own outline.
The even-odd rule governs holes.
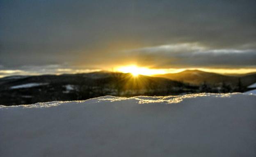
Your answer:
[[[0,77],[256,71],[255,0],[0,0]]]

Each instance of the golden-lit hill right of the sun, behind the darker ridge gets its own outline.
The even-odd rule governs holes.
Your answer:
[[[180,82],[190,83],[190,84],[202,84],[206,82],[208,84],[220,84],[220,83],[228,83],[228,84],[238,84],[238,80],[243,86],[248,86],[256,82],[256,73],[250,73],[248,75],[221,75],[217,73],[208,73],[199,70],[186,70],[180,73],[168,73],[165,75],[155,75],[155,77],[163,77],[168,78],[170,80],[176,80]]]

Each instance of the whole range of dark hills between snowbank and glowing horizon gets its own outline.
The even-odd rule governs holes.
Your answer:
[[[240,78],[241,84],[238,84]],[[205,83],[204,83],[205,82]],[[82,74],[10,76],[0,78],[0,104],[33,104],[86,100],[105,95],[183,95],[190,93],[244,92],[256,74],[226,76],[203,71],[149,77],[100,71]]]

